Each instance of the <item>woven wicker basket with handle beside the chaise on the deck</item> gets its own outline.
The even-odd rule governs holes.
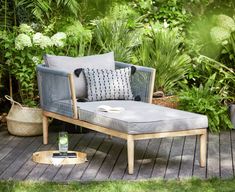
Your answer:
[[[10,97],[12,103],[6,117],[9,133],[16,136],[35,136],[42,134],[42,110],[39,108],[22,107]]]

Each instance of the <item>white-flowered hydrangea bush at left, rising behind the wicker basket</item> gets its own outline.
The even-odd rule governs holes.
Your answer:
[[[57,54],[67,45],[67,35],[57,32],[47,36],[30,25],[21,24],[12,33],[1,35],[5,44],[9,72],[19,82],[19,93],[24,105],[37,104],[36,65],[45,53]]]

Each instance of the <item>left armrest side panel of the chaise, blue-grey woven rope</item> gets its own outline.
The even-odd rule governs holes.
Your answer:
[[[45,65],[38,65],[36,69],[41,108],[74,117],[70,74]]]

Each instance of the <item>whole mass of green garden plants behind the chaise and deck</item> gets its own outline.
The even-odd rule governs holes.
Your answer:
[[[178,95],[181,109],[208,115],[211,131],[232,128],[226,109],[235,100],[233,1],[1,0],[0,5],[1,97],[10,93],[24,105],[38,106],[35,67],[44,54],[114,51],[118,61],[155,68],[155,91]],[[195,102],[197,97],[206,104]]]

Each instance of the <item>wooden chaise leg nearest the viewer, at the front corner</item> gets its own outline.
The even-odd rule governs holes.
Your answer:
[[[128,173],[134,172],[134,140],[130,136],[127,139],[127,158],[128,158]]]

